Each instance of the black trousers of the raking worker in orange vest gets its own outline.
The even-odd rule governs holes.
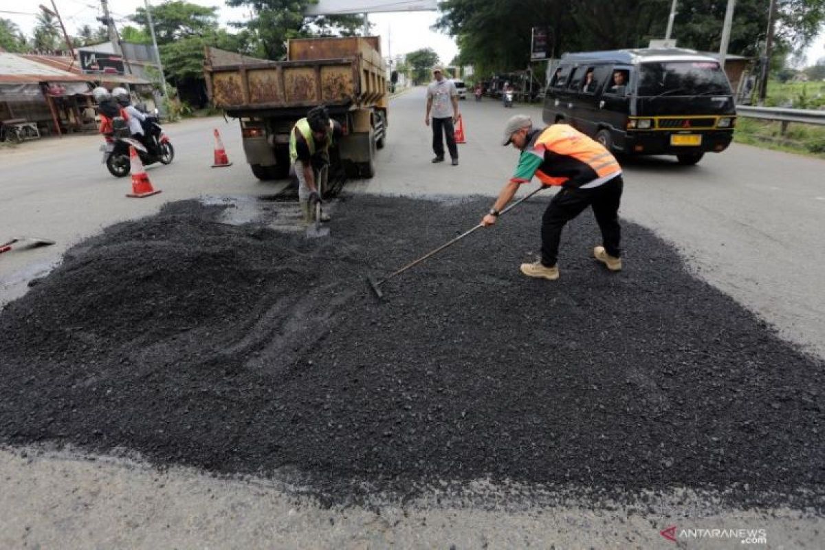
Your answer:
[[[621,176],[592,189],[563,187],[550,200],[541,219],[541,263],[552,267],[559,260],[559,239],[564,225],[588,206],[596,215],[596,223],[601,229],[601,246],[610,256],[621,256],[619,227],[619,203],[624,182]]]

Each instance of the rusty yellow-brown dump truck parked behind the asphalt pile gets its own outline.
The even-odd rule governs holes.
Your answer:
[[[387,82],[378,36],[290,40],[271,61],[207,47],[210,101],[240,120],[243,152],[261,180],[288,176],[290,131],[314,106],[326,106],[344,131],[332,170],[375,175],[375,150],[387,135]]]

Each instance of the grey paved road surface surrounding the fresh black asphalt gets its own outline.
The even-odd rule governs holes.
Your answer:
[[[468,143],[460,166],[432,165],[423,89],[392,101],[389,138],[376,176],[352,181],[353,193],[495,195],[517,153],[498,145],[503,123],[535,107],[504,109],[497,101],[462,101]],[[219,128],[232,167],[210,168],[212,129]],[[68,247],[111,223],[153,214],[167,201],[200,195],[271,195],[282,182],[257,181],[243,160],[237,122],[190,120],[168,125],[177,149],[171,166],[150,167],[163,190],[125,198],[128,179],[100,164],[97,136],[42,140],[0,149],[0,238],[28,235],[54,247],[0,256],[0,303],[20,296]],[[820,235],[825,230],[825,163],[734,145],[698,166],[672,158],[625,163],[621,215],[672,242],[688,266],[771,323],[785,339],[825,357],[825,292]],[[551,192],[551,191],[548,191]],[[482,214],[482,213],[479,213]],[[517,215],[514,213],[514,215]],[[502,223],[507,223],[502,219]],[[628,251],[625,261],[633,261]],[[655,266],[650,266],[655,269]],[[2,341],[2,336],[0,336]],[[0,419],[2,421],[2,419]],[[422,501],[373,509],[325,510],[285,496],[275,483],[221,480],[176,469],[158,472],[139,460],[89,458],[68,451],[0,451],[0,546],[250,548],[489,548],[521,546],[649,547],[668,543],[659,531],[766,529],[772,548],[818,548],[825,521],[798,510],[729,510],[712,496],[657,496],[631,511],[624,505],[587,510],[581,503],[511,510],[490,504]],[[479,482],[479,493],[495,487]],[[449,501],[449,499],[445,499]],[[730,548],[739,540],[699,541]]]

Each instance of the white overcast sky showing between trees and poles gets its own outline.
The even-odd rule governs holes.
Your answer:
[[[229,21],[246,21],[249,18],[248,9],[226,7],[221,0],[187,0],[201,6],[219,7],[219,20],[222,24]],[[75,34],[78,27],[85,24],[97,26],[95,17],[101,15],[99,0],[55,0],[60,15],[63,16],[69,34]],[[51,7],[51,0],[0,0],[0,17],[11,19],[21,31],[31,35],[35,26],[34,13],[43,3]],[[153,5],[160,0],[151,0]],[[137,7],[142,7],[144,0],[109,0],[109,10],[115,16],[118,26],[129,24],[125,17],[134,13]],[[3,13],[6,11],[26,12],[32,15]],[[458,48],[455,41],[449,36],[430,30],[436,22],[436,12],[407,12],[407,13],[375,13],[370,15],[370,22],[374,23],[373,33],[381,36],[381,50],[384,55],[406,54],[419,48],[432,48],[441,58],[441,63],[450,63]],[[389,44],[388,44],[389,38]],[[821,33],[814,44],[805,52],[808,63],[825,57],[825,32]]]

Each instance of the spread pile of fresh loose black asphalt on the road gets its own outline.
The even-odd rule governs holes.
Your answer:
[[[196,201],[107,228],[0,313],[0,444],[291,477],[333,502],[482,479],[822,510],[823,361],[632,223],[621,273],[592,259],[585,213],[561,278],[524,277],[547,200],[381,301],[366,275],[489,200],[350,196],[315,239]]]

